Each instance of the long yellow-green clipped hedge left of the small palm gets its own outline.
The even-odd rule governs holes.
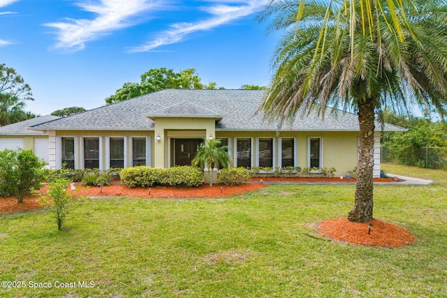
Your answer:
[[[159,169],[140,165],[127,167],[121,171],[121,183],[131,188],[149,186],[200,186],[203,182],[203,171],[198,167],[184,165]]]

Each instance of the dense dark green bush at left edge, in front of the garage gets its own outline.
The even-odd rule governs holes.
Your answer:
[[[22,203],[24,195],[41,188],[44,164],[32,150],[0,151],[0,195],[15,196]]]

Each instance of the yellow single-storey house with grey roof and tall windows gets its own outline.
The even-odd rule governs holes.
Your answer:
[[[49,131],[49,165],[61,168],[188,165],[204,137],[228,145],[237,167],[335,167],[357,163],[357,115],[327,112],[278,128],[255,114],[265,91],[166,89],[33,126]],[[380,127],[379,124],[377,127]],[[404,131],[386,124],[384,131]],[[380,129],[374,176],[380,174]]]

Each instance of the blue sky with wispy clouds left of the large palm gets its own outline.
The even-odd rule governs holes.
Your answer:
[[[277,36],[266,0],[0,0],[0,63],[33,91],[25,110],[92,109],[150,68],[196,68],[202,82],[267,85]]]

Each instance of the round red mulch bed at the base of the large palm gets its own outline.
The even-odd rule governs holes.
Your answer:
[[[398,247],[414,242],[414,236],[407,230],[379,221],[372,220],[371,232],[368,223],[353,223],[348,218],[335,218],[320,223],[319,230],[324,236],[353,244]]]

